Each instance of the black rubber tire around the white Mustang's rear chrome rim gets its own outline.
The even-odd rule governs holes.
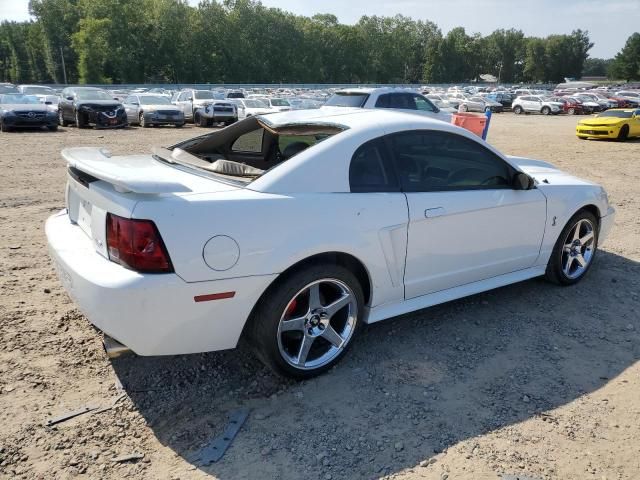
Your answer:
[[[294,301],[296,302],[296,305],[299,305],[297,303],[297,299],[300,298],[301,295],[304,295],[305,287],[320,280],[323,282],[340,282],[341,284],[346,285],[350,292],[353,293],[355,304],[357,305],[355,324],[351,328],[351,333],[349,334],[346,343],[334,352],[335,356],[331,357],[327,363],[317,367],[296,367],[287,361],[284,354],[281,353],[281,348],[284,349],[285,347],[282,346],[284,345],[283,333],[279,332],[280,321],[281,318],[286,315],[286,311],[294,304]],[[301,311],[303,313],[301,313],[300,316],[305,315],[305,310],[307,311],[307,316],[311,315],[308,303],[307,305],[301,305],[301,307]],[[344,312],[344,308],[345,307],[342,308],[342,312]],[[269,287],[267,292],[260,299],[258,305],[255,307],[251,318],[249,319],[249,323],[247,324],[245,335],[249,343],[252,345],[256,356],[275,373],[302,380],[320,375],[321,373],[329,370],[342,357],[344,357],[345,352],[353,343],[353,340],[360,329],[363,313],[364,295],[362,293],[362,287],[355,275],[347,268],[339,265],[316,264],[294,270],[285,277],[278,279],[274,285]],[[296,314],[296,316],[298,315]],[[337,316],[338,314],[336,317]],[[332,317],[330,317],[330,320],[331,319]],[[307,325],[306,322],[307,321],[305,321],[305,328]],[[296,331],[294,334],[299,334],[301,337],[299,347],[301,350],[302,342],[304,341],[306,334],[302,333],[302,331]],[[312,343],[315,343],[319,347],[320,351],[328,346],[324,338],[322,341],[319,341],[318,337],[314,338],[315,340],[313,340]],[[329,346],[328,348],[331,347]],[[311,355],[311,351],[309,355]],[[314,360],[312,359],[311,361]]]

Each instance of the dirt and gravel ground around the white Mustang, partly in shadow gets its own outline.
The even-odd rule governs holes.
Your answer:
[[[43,224],[64,206],[63,147],[145,153],[201,129],[0,134],[0,477],[640,478],[640,142],[580,141],[575,123],[495,115],[489,140],[607,188],[616,225],[583,282],[372,325],[302,383],[243,348],[109,362],[54,274]],[[44,425],[84,406],[112,408]],[[200,466],[238,408],[233,445]]]

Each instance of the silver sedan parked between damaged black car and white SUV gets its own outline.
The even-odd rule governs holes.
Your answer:
[[[184,125],[184,113],[162,95],[140,93],[125,98],[124,109],[130,124],[141,127],[152,125]]]

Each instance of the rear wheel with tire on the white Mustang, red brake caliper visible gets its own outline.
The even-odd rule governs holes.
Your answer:
[[[247,334],[273,371],[311,378],[344,356],[363,311],[362,287],[351,271],[315,265],[294,271],[260,300]]]

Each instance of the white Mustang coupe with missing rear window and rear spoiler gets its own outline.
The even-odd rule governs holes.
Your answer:
[[[274,113],[152,155],[62,155],[49,249],[107,352],[244,337],[296,378],[334,365],[363,323],[540,275],[578,282],[615,213],[598,185],[390,110]]]

